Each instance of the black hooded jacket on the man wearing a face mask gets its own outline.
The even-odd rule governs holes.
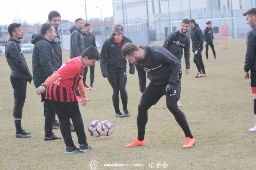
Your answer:
[[[126,42],[131,42],[131,40],[125,36],[121,44],[114,42],[113,34],[108,40],[106,40],[102,45],[102,51],[100,53],[100,68],[103,77],[108,77],[108,73],[116,71],[126,71],[126,59],[121,55],[122,46]],[[134,74],[135,66],[129,62],[130,74]]]

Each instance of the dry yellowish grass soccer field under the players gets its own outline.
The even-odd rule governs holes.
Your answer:
[[[163,96],[148,111],[146,145],[125,148],[126,144],[137,138],[137,106],[141,97],[137,72],[128,74],[126,85],[131,116],[116,118],[112,88],[108,80],[102,77],[99,62],[96,62],[96,91],[86,91],[90,101],[86,107],[80,107],[87,142],[92,146],[92,151],[70,155],[65,154],[63,139],[44,141],[43,103],[41,96],[35,92],[33,82],[27,86],[22,117],[22,127],[32,132],[32,138],[15,138],[12,116],[14,98],[9,79],[11,71],[5,56],[0,56],[0,170],[88,170],[92,160],[98,162],[97,170],[255,169],[256,133],[248,131],[255,125],[253,97],[250,80],[243,78],[246,40],[229,40],[228,49],[217,44],[215,51],[216,62],[210,48],[210,62],[206,62],[205,49],[202,52],[207,77],[198,79],[195,78],[197,69],[191,51],[189,75],[183,74],[181,79],[180,102],[183,107],[180,109],[186,115],[195,138],[194,147],[182,149],[184,133],[166,108]],[[32,72],[32,54],[24,56]],[[63,61],[68,57],[69,51],[63,51]],[[184,58],[182,68],[185,72]],[[89,79],[87,74],[87,84]],[[99,138],[90,136],[87,125],[92,120],[111,121],[115,128],[112,135]],[[60,130],[54,132],[61,136]],[[76,133],[72,133],[72,136],[74,143],[79,146]],[[151,163],[155,165],[153,168],[150,167]]]

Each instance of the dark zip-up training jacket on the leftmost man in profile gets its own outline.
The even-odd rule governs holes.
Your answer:
[[[9,67],[11,68],[11,76],[25,78],[27,82],[32,81],[33,77],[29,71],[26,59],[21,52],[19,41],[10,38],[6,42],[5,55]]]

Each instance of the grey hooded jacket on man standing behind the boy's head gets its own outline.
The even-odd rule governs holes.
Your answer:
[[[84,38],[82,31],[76,26],[70,27],[70,59],[81,56],[84,51]]]

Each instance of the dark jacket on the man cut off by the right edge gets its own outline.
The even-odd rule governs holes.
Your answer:
[[[256,70],[256,25],[247,34],[244,71]]]

